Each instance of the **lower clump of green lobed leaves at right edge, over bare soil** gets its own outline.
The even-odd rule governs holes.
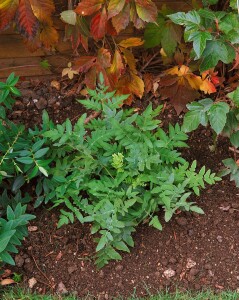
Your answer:
[[[197,129],[200,124],[203,126],[210,125],[215,133],[214,143],[216,143],[219,135],[230,139],[234,159],[223,160],[226,170],[223,170],[221,175],[231,174],[231,180],[234,180],[236,186],[239,187],[239,160],[237,158],[239,147],[239,88],[229,93],[227,97],[230,103],[206,98],[188,104],[189,112],[184,117],[183,130],[190,132]]]

